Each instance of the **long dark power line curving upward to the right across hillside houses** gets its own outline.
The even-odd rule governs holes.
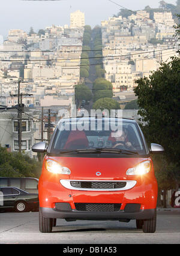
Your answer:
[[[147,51],[147,52],[138,52],[138,53],[129,53],[129,54],[124,54],[124,55],[112,55],[112,56],[101,56],[101,57],[88,57],[88,58],[68,58],[68,59],[26,59],[25,61],[69,61],[69,60],[82,60],[82,59],[101,59],[101,58],[112,58],[112,57],[125,57],[125,56],[132,56],[132,55],[140,55],[140,54],[145,54],[145,53],[152,53],[152,52],[160,52],[163,50],[171,50],[175,49],[176,47],[171,47],[171,48],[166,48],[166,49],[161,49],[161,50],[152,50],[152,51]],[[12,61],[12,59],[1,59],[0,61],[2,62],[7,62],[7,61]],[[22,62],[22,59],[14,59],[13,61],[15,62]]]

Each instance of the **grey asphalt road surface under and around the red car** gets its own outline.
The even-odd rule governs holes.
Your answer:
[[[0,213],[0,243],[16,244],[178,244],[180,243],[180,211],[157,212],[157,231],[153,234],[136,229],[134,220],[75,221],[58,219],[52,233],[40,233],[38,212]]]

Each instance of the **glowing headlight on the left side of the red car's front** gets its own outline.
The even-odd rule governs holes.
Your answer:
[[[65,166],[61,166],[58,162],[52,159],[47,159],[45,161],[45,167],[47,171],[52,172],[53,174],[71,174],[70,169]]]

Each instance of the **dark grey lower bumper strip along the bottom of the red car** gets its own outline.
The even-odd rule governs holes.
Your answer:
[[[81,212],[78,210],[61,211],[53,208],[40,207],[43,217],[60,219],[84,219],[84,220],[121,220],[121,219],[151,219],[154,216],[155,209],[143,209],[139,212]]]

